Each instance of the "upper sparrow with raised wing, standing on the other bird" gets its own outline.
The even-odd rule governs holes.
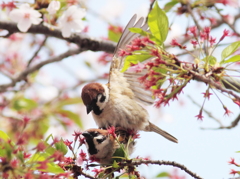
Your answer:
[[[136,15],[127,24],[114,52],[110,67],[108,84],[90,83],[82,89],[82,100],[87,113],[92,111],[93,118],[99,128],[119,126],[125,129],[153,131],[170,141],[178,140],[149,121],[148,112],[139,104],[153,104],[152,93],[144,89],[138,77],[144,73],[121,72],[124,57],[119,56],[119,50],[126,49],[127,45],[139,37],[128,30],[130,27],[148,29],[140,18],[136,23]],[[138,103],[139,102],[139,103]]]

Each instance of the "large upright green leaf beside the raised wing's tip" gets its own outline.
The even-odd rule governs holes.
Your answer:
[[[153,36],[155,36],[161,45],[167,38],[168,18],[165,12],[159,8],[158,3],[154,4],[153,9],[148,14],[148,26]]]

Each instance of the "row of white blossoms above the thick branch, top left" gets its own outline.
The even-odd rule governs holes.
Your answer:
[[[8,6],[2,4],[3,8]],[[21,4],[16,8],[12,2],[9,13],[10,19],[17,23],[17,27],[21,32],[27,32],[31,25],[42,23],[47,27],[60,29],[64,38],[70,37],[72,32],[81,32],[84,30],[82,19],[85,15],[85,9],[77,5],[71,5],[64,10],[64,8],[61,8],[61,2],[55,0],[51,1],[47,8],[40,9],[31,7],[28,3]]]

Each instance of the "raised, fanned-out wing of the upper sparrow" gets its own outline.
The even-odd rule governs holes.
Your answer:
[[[136,27],[141,28],[144,31],[148,29],[148,25],[144,22],[143,17],[141,17],[137,22],[136,19],[137,15],[135,14],[125,27],[115,49],[110,67],[109,89],[110,93],[116,92],[126,94],[141,104],[151,105],[154,102],[154,99],[152,98],[152,92],[145,90],[144,86],[138,80],[139,77],[146,74],[146,70],[143,70],[140,73],[128,71],[125,71],[124,73],[121,72],[125,57],[119,56],[119,51],[126,50],[127,46],[133,39],[141,37],[140,34],[130,32],[129,28]]]

